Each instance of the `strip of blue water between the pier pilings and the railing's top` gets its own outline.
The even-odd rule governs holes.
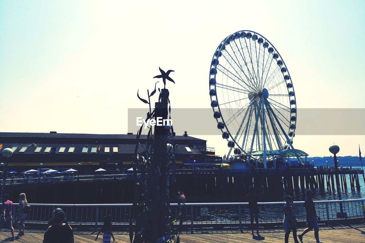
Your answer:
[[[362,167],[363,169],[365,168]],[[341,196],[342,199],[357,199],[357,198],[365,198],[365,184],[364,184],[364,179],[362,177],[362,174],[359,174],[359,183],[360,183],[360,190],[356,189],[355,186],[355,190],[351,190],[350,189],[350,175],[346,175],[346,181],[347,181],[347,189],[343,189],[341,188]],[[336,182],[335,182],[336,184]],[[341,184],[341,179],[340,179],[340,184]],[[284,196],[287,193],[284,190]],[[314,189],[314,200],[315,201],[321,201],[321,200],[338,200],[338,194],[337,194],[337,190],[329,190],[327,189],[327,185],[324,185],[324,191],[319,190],[318,188]],[[299,191],[294,190],[293,195],[290,195],[294,197],[294,201],[304,201],[304,199],[306,198],[305,192],[301,189],[299,189]],[[270,195],[269,196],[269,201],[283,201],[283,198],[281,196],[275,196],[275,195]]]

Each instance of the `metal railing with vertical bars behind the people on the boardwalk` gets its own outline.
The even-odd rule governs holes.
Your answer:
[[[333,201],[314,201],[320,223],[330,225],[333,220],[365,219],[365,198]],[[340,203],[343,214],[340,215]],[[18,204],[13,204],[13,212]],[[55,208],[61,208],[69,223],[76,226],[88,226],[97,229],[103,224],[103,217],[112,215],[115,225],[128,227],[132,204],[30,204],[32,210],[25,223],[43,225],[53,217]],[[259,223],[283,223],[284,202],[259,202]],[[180,212],[177,204],[171,204],[171,217]],[[183,224],[185,228],[214,227],[216,225],[229,225],[239,227],[250,223],[247,202],[227,203],[187,203],[183,206],[185,215]],[[298,221],[306,220],[304,202],[294,202],[293,215]],[[13,215],[14,216],[14,215]],[[14,218],[14,217],[13,217]],[[178,222],[177,222],[178,223]]]

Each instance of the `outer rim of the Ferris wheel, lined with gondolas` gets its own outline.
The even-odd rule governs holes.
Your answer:
[[[289,105],[290,105],[290,108],[292,108],[292,107],[294,107],[295,108],[295,113],[293,113],[294,114],[294,116],[296,117],[296,119],[295,119],[295,121],[293,122],[293,123],[291,123],[291,122],[289,122],[289,124],[294,124],[294,128],[293,129],[291,129],[290,127],[288,127],[288,129],[287,129],[287,132],[286,132],[286,134],[285,135],[287,135],[287,136],[289,136],[289,133],[291,132],[291,130],[292,130],[292,132],[293,132],[293,134],[295,134],[295,130],[296,130],[296,121],[297,121],[297,109],[296,109],[296,107],[297,107],[297,104],[296,104],[296,94],[295,94],[295,92],[294,92],[294,86],[293,86],[293,82],[292,82],[292,78],[291,78],[291,76],[290,76],[290,72],[289,72],[289,70],[288,70],[288,67],[287,67],[287,65],[285,64],[285,61],[284,61],[284,59],[282,58],[282,56],[281,56],[281,54],[280,54],[280,52],[276,49],[276,47],[267,39],[267,38],[265,38],[265,36],[263,36],[263,35],[261,35],[261,34],[259,34],[258,32],[255,32],[255,31],[252,31],[252,30],[240,30],[240,31],[236,31],[236,32],[234,32],[233,34],[231,34],[231,35],[228,35],[226,38],[224,38],[221,42],[220,42],[220,44],[218,45],[218,47],[216,48],[216,50],[215,50],[215,52],[214,52],[214,54],[213,54],[213,56],[212,56],[212,60],[211,60],[211,64],[210,64],[210,71],[212,70],[212,69],[214,69],[215,70],[215,74],[212,76],[212,74],[211,73],[209,73],[209,80],[213,77],[214,78],[214,80],[215,80],[215,83],[214,83],[214,89],[215,90],[217,90],[217,86],[216,86],[216,76],[217,76],[217,72],[216,72],[216,70],[217,70],[217,68],[216,68],[216,66],[217,65],[213,65],[212,63],[213,63],[213,60],[215,59],[215,57],[216,57],[216,59],[218,60],[218,58],[220,57],[220,54],[222,53],[222,49],[223,49],[223,45],[226,43],[226,41],[227,41],[227,39],[228,38],[230,38],[231,36],[234,38],[234,35],[235,34],[238,34],[238,33],[243,33],[243,32],[250,32],[250,33],[252,33],[252,34],[256,34],[256,35],[258,35],[258,36],[260,36],[261,38],[264,38],[265,39],[265,42],[268,42],[270,45],[271,45],[271,47],[273,47],[273,49],[274,49],[274,53],[277,53],[278,54],[278,57],[280,57],[280,60],[283,62],[283,66],[286,68],[286,72],[288,73],[288,76],[289,76],[289,80],[286,80],[286,82],[285,82],[285,84],[291,84],[291,89],[293,90],[293,96],[292,96],[292,98],[293,99],[291,99],[290,97],[289,97],[289,101],[291,101],[291,100],[294,100],[295,101],[295,103],[294,104],[291,104],[291,103],[289,103]],[[241,38],[241,37],[239,37],[239,38]],[[243,38],[246,38],[246,37],[243,37]],[[238,39],[238,38],[237,38]],[[249,39],[251,39],[251,38],[249,38]],[[256,39],[257,40],[257,39]],[[255,41],[255,40],[254,40]],[[261,45],[261,44],[260,44]],[[224,50],[224,49],[223,49]],[[215,53],[216,53],[216,51],[218,51],[218,56],[216,56],[215,55]],[[269,67],[270,68],[270,67]],[[211,90],[211,84],[209,84],[209,90]],[[289,88],[287,87],[287,91],[289,92]],[[245,149],[243,148],[243,147],[241,147],[241,145],[236,141],[236,139],[233,137],[233,135],[231,134],[231,131],[230,131],[230,129],[228,129],[228,127],[227,127],[227,125],[226,125],[226,122],[224,121],[224,117],[223,117],[223,114],[222,114],[222,111],[221,111],[221,107],[220,107],[220,105],[219,105],[219,100],[218,100],[218,95],[217,95],[217,93],[215,93],[215,95],[214,96],[210,96],[210,99],[211,99],[211,103],[214,101],[214,98],[215,97],[215,101],[216,101],[216,103],[217,103],[217,106],[216,107],[213,107],[212,106],[212,109],[213,109],[213,112],[215,112],[216,110],[215,110],[215,108],[218,108],[218,111],[219,111],[219,113],[220,113],[220,117],[218,117],[218,118],[215,118],[216,119],[216,121],[217,121],[217,123],[219,123],[220,121],[218,120],[218,119],[220,119],[220,120],[222,120],[222,122],[223,122],[223,124],[224,124],[224,127],[223,128],[220,128],[219,130],[221,130],[221,132],[222,132],[222,134],[224,133],[224,132],[227,132],[228,133],[228,135],[229,135],[229,137],[228,138],[225,138],[228,142],[230,141],[229,139],[231,139],[231,141],[233,141],[237,146],[238,146],[238,148],[243,152],[243,153],[245,153],[246,155],[248,154],[246,151],[245,151]],[[250,104],[251,105],[251,104]],[[249,106],[250,106],[249,105]],[[249,107],[248,106],[248,107]],[[247,108],[248,108],[247,107]],[[226,130],[226,131],[223,131],[223,129],[224,130]],[[291,138],[290,139],[290,143],[289,143],[289,141],[286,141],[285,142],[285,146],[287,146],[286,144],[289,144],[288,146],[287,146],[287,148],[284,148],[284,146],[281,148],[281,149],[289,149],[290,148],[290,145],[292,145],[292,140],[293,140],[293,138]],[[251,142],[253,142],[253,141],[251,141]]]

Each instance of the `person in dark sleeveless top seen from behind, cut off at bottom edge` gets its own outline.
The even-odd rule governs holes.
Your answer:
[[[73,231],[70,225],[63,223],[64,212],[58,212],[54,224],[47,228],[43,243],[74,243]]]

